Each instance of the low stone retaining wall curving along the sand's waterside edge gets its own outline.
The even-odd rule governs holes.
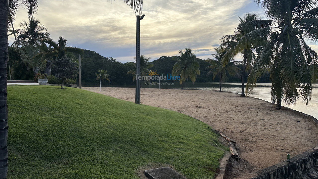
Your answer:
[[[252,97],[252,98],[259,99],[256,97]],[[259,100],[262,100],[262,99],[259,99]],[[262,101],[265,101],[265,100],[262,100]],[[265,101],[265,102],[270,103],[268,101]],[[296,111],[284,106],[282,106],[282,109],[285,109],[287,111],[293,111],[297,114],[302,115],[318,128],[318,120],[314,118],[313,116],[310,116],[303,112]],[[300,155],[297,155],[291,158],[290,162],[283,161],[283,162],[280,162],[279,164],[261,169],[251,174],[240,176],[236,179],[280,179],[280,178],[296,179],[296,178],[299,178],[301,174],[306,173],[308,170],[310,170],[311,168],[315,166],[318,166],[318,145],[315,148],[312,148]]]

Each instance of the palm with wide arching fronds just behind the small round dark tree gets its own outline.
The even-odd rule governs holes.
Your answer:
[[[84,55],[83,49],[79,47],[72,47],[67,46],[67,40],[63,37],[59,37],[58,43],[55,43],[52,39],[44,39],[41,41],[43,44],[47,43],[49,46],[39,44],[37,45],[37,48],[41,49],[42,52],[34,56],[34,60],[37,60],[39,58],[46,59],[47,65],[46,65],[46,74],[50,75],[50,67],[52,64],[51,59],[60,58],[62,56],[70,56],[72,57],[71,53],[76,53],[80,55]],[[53,48],[52,48],[53,47]],[[75,57],[75,56],[74,56]],[[74,61],[74,58],[72,58]]]

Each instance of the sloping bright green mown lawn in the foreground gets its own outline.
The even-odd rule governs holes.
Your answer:
[[[203,122],[59,88],[8,86],[9,179],[138,179],[141,168],[167,165],[214,177],[226,148]]]

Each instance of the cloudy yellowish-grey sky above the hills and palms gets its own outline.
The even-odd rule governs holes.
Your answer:
[[[144,0],[141,54],[156,60],[190,47],[198,58],[209,58],[220,37],[232,34],[238,25],[237,16],[243,17],[245,12],[258,12],[264,17],[254,0]],[[136,17],[122,0],[39,0],[36,18],[55,41],[63,36],[70,46],[123,63],[133,61]],[[21,20],[27,20],[23,8],[17,13],[15,28]],[[10,45],[13,41],[10,36]],[[318,51],[317,45],[312,47]]]

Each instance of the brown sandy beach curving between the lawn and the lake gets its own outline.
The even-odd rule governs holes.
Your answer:
[[[98,87],[82,89],[100,93]],[[101,93],[135,102],[134,88],[102,88]],[[291,111],[269,111],[270,104],[234,93],[143,88],[141,103],[187,114],[225,133],[237,142],[240,158],[256,170],[318,145],[318,130],[307,119]]]

